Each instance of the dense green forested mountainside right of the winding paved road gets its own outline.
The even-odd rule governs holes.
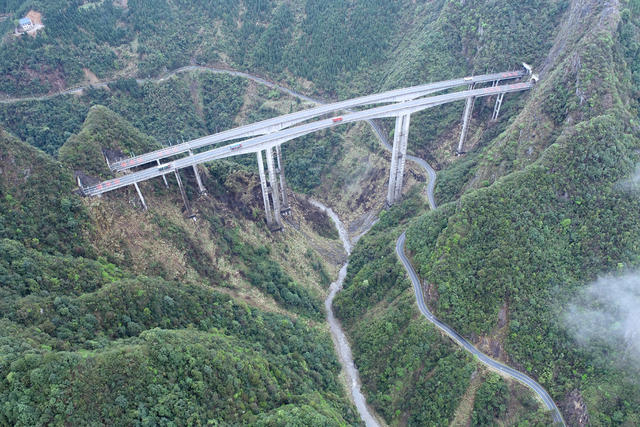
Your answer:
[[[437,286],[436,311],[478,336],[493,333],[507,304],[505,347],[512,360],[560,401],[582,390],[596,425],[638,422],[640,389],[625,379],[637,375],[636,367],[620,369],[624,356],[617,353],[624,343],[606,351],[576,346],[562,312],[597,275],[638,262],[640,224],[632,214],[638,199],[617,184],[637,162],[636,101],[630,98],[636,90],[624,68],[625,60],[635,61],[628,46],[636,12],[625,10],[613,32],[601,28],[578,44],[577,78],[589,101],[552,99],[566,102],[564,117],[579,121],[570,132],[521,172],[468,192],[446,223],[438,226],[434,216],[425,216],[408,235],[421,275]],[[498,160],[506,162],[504,157]],[[434,228],[426,240],[425,231]]]

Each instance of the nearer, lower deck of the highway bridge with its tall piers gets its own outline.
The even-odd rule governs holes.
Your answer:
[[[286,181],[284,177],[284,163],[282,161],[282,152],[281,152],[281,145],[283,143],[290,141],[292,139],[307,135],[309,133],[316,132],[321,129],[335,127],[335,126],[339,126],[346,123],[354,123],[357,121],[371,121],[372,119],[383,118],[383,117],[395,117],[396,125],[395,125],[395,134],[394,134],[394,143],[392,148],[391,166],[390,166],[390,172],[389,172],[389,188],[387,191],[387,204],[391,205],[397,202],[401,198],[401,194],[402,194],[403,176],[404,176],[404,168],[405,168],[406,157],[407,157],[406,153],[407,153],[409,123],[410,123],[411,114],[418,111],[422,111],[427,108],[435,107],[437,105],[442,105],[448,102],[454,102],[454,101],[464,99],[465,112],[463,115],[462,133],[461,133],[460,142],[458,145],[458,153],[461,153],[475,98],[498,95],[499,98],[496,101],[496,106],[494,108],[494,114],[493,114],[494,119],[497,118],[497,115],[499,114],[499,111],[500,111],[502,98],[505,93],[529,90],[533,87],[532,82],[498,85],[500,80],[519,78],[521,77],[520,74],[502,73],[500,77],[493,82],[493,86],[491,87],[474,89],[474,82],[472,82],[469,84],[467,91],[453,92],[453,93],[430,96],[430,97],[419,97],[418,99],[412,99],[410,101],[400,101],[395,104],[370,108],[368,110],[362,110],[362,111],[348,110],[344,116],[338,116],[338,117],[333,117],[329,119],[321,119],[321,120],[307,123],[307,124],[299,124],[293,127],[287,127],[287,126],[291,126],[295,123],[300,123],[300,121],[295,121],[295,120],[292,121],[290,114],[285,115],[282,117],[282,121],[280,123],[277,122],[278,118],[270,119],[269,123],[271,127],[270,129],[267,129],[267,130],[273,131],[273,133],[269,133],[266,135],[262,134],[260,136],[248,138],[240,142],[229,144],[224,147],[217,147],[209,151],[204,151],[198,154],[194,154],[192,151],[192,148],[195,147],[194,144],[192,144],[191,142],[183,143],[182,145],[188,146],[188,148],[186,149],[186,151],[188,152],[187,157],[183,157],[168,163],[160,163],[159,158],[154,158],[151,161],[153,161],[154,163],[157,163],[157,166],[140,170],[137,172],[133,172],[131,174],[117,177],[111,180],[107,180],[89,187],[82,187],[81,189],[83,194],[85,195],[100,195],[102,193],[112,191],[117,188],[122,188],[124,186],[131,185],[131,184],[134,184],[137,187],[138,182],[152,179],[157,176],[162,176],[165,181],[165,184],[167,184],[166,174],[174,172],[176,175],[176,180],[178,181],[178,186],[180,188],[182,198],[185,203],[185,208],[187,209],[188,214],[192,216],[191,207],[189,205],[189,201],[187,199],[186,192],[184,191],[182,180],[180,179],[180,175],[178,172],[180,169],[183,169],[186,167],[193,167],[193,171],[196,176],[196,181],[198,183],[198,188],[200,192],[203,193],[205,191],[205,188],[202,185],[202,181],[200,180],[200,176],[196,168],[198,164],[216,160],[216,159],[223,159],[226,157],[232,157],[232,156],[248,154],[248,153],[256,153],[267,223],[272,228],[281,228],[282,227],[281,214],[286,214],[290,210],[288,199],[287,199]],[[466,81],[467,79],[473,80],[473,78],[465,78],[464,80]],[[398,95],[398,96],[402,97],[406,95]],[[367,98],[367,97],[363,97],[363,98]],[[348,103],[348,101],[343,101],[343,103]],[[334,104],[334,105],[337,105],[337,104]],[[262,131],[259,131],[257,133],[259,134]],[[247,132],[244,132],[244,133],[247,133]],[[222,136],[220,138],[217,138],[217,135],[223,135],[223,134],[226,135],[224,137],[224,138],[227,138],[226,140],[229,139],[228,138],[229,135],[235,135],[234,130],[224,131],[224,132],[221,132],[220,134],[211,135],[208,137],[200,138],[198,140],[194,140],[194,143],[204,144],[204,142],[211,143],[210,141],[214,141],[217,139],[225,140]],[[244,135],[242,132],[240,132],[239,135],[240,134]],[[237,137],[238,136],[236,135],[236,138]],[[166,156],[179,154],[181,152],[185,152],[185,150],[180,147],[178,148],[170,147],[170,148],[160,150],[159,152],[161,153],[160,154],[161,156],[166,157]],[[267,176],[264,170],[262,152],[264,152],[266,155],[268,181],[267,181]],[[147,154],[154,154],[154,153],[155,152],[147,153]],[[147,154],[144,154],[138,157],[146,159],[145,156],[147,156]],[[274,154],[276,156],[275,161],[274,161]],[[132,163],[131,159],[129,159],[128,161],[125,161],[125,163],[128,164],[129,167],[131,167],[131,163]],[[139,190],[139,188],[137,188],[137,190]],[[141,200],[143,201],[143,205],[145,205],[141,194],[140,194],[140,197],[141,197]]]

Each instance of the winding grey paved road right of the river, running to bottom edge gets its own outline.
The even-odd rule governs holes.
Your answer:
[[[418,308],[420,309],[420,312],[422,313],[422,315],[426,317],[427,320],[429,320],[431,323],[433,323],[438,329],[443,331],[445,334],[449,335],[449,337],[453,341],[455,341],[458,345],[462,346],[469,353],[473,354],[480,362],[484,363],[490,368],[508,377],[511,377],[521,382],[522,384],[526,385],[531,390],[533,390],[538,396],[540,396],[545,406],[551,411],[551,413],[553,414],[553,420],[556,423],[566,425],[564,423],[564,419],[562,418],[562,414],[560,413],[560,410],[556,406],[553,399],[551,399],[551,396],[549,396],[549,393],[547,393],[546,390],[542,388],[542,386],[538,384],[533,378],[523,374],[522,372],[516,371],[515,369],[507,365],[504,365],[490,358],[486,354],[482,353],[480,350],[475,348],[469,341],[464,339],[460,334],[458,334],[456,331],[451,329],[449,325],[441,322],[440,320],[438,320],[438,318],[436,318],[433,315],[433,313],[431,313],[427,305],[424,303],[424,296],[422,294],[422,286],[420,285],[420,279],[418,278],[418,275],[413,269],[413,266],[411,265],[411,263],[409,262],[409,259],[404,253],[405,239],[406,239],[406,231],[400,235],[400,237],[398,238],[398,241],[396,242],[396,254],[398,255],[398,258],[400,258],[400,261],[402,261],[404,268],[407,270],[407,273],[409,274],[409,278],[411,279],[411,283],[413,284],[413,290],[416,294],[416,301],[418,302]]]

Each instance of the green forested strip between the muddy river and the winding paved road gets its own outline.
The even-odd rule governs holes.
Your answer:
[[[345,289],[335,303],[337,315],[353,337],[355,361],[369,402],[394,425],[451,424],[472,377],[478,375],[477,362],[419,314],[413,289],[394,252],[407,220],[426,208],[414,192],[401,205],[383,212],[356,246]],[[447,212],[434,214],[445,219]],[[486,417],[513,425],[550,422],[549,414],[532,401],[529,391],[509,398],[503,393],[499,400],[494,397],[498,391],[485,384],[483,381],[476,402],[484,395],[485,402],[496,409],[478,406],[474,419]],[[502,386],[506,387],[504,381]],[[508,414],[507,405],[511,408]]]

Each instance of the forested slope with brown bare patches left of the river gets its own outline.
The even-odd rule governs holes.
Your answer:
[[[84,147],[132,148],[119,141],[154,144],[96,107],[61,158],[91,167]],[[64,164],[5,131],[0,153],[0,424],[356,421],[318,325],[324,263],[255,242],[259,198],[234,190],[255,175],[212,170],[226,201],[195,203],[196,225],[168,190],[149,215],[122,195],[86,206]]]

